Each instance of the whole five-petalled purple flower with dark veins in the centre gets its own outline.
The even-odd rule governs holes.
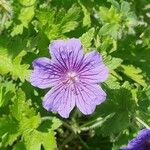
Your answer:
[[[83,54],[79,39],[55,40],[50,44],[52,59],[45,57],[33,61],[31,84],[52,89],[45,95],[43,107],[68,118],[75,105],[85,114],[91,114],[96,105],[106,99],[98,85],[106,80],[108,68],[96,51]]]

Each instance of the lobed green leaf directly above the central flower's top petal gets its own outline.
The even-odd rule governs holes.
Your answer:
[[[59,13],[54,12],[54,10],[41,9],[37,15],[40,21],[39,27],[44,30],[49,40],[63,37],[64,33],[74,30],[79,25],[77,20],[80,17],[80,12],[80,8],[75,5],[67,12],[60,9]],[[49,17],[47,18],[47,16]]]

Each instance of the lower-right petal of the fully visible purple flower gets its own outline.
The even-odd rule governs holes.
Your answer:
[[[82,83],[76,86],[76,105],[83,114],[94,112],[96,105],[101,104],[106,99],[106,93],[98,85]]]

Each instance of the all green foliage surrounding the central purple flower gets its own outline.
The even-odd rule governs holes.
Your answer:
[[[46,112],[32,61],[80,38],[109,67],[107,100],[90,116]],[[0,0],[0,149],[118,150],[150,124],[149,0]]]

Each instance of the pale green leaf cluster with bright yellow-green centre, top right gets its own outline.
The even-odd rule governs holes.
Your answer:
[[[119,5],[116,1],[110,9],[99,8],[99,18],[103,26],[99,31],[102,36],[110,35],[114,39],[120,39],[123,34],[134,34],[134,27],[137,25],[136,15],[130,11],[130,4],[122,1]]]

